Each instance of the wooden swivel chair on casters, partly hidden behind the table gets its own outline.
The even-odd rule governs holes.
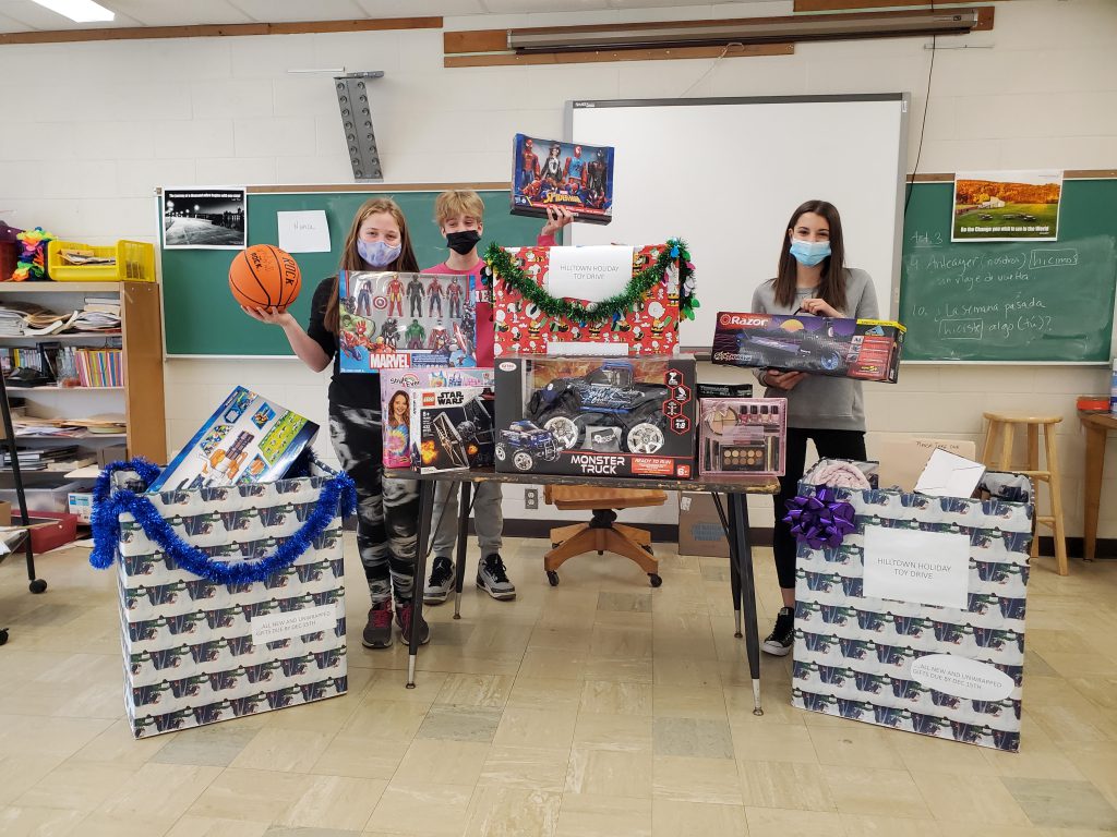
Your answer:
[[[552,549],[543,556],[543,568],[554,587],[558,584],[558,567],[583,552],[607,550],[624,556],[645,573],[652,587],[659,587],[659,561],[651,551],[651,536],[646,529],[617,523],[613,509],[640,506],[662,506],[663,491],[647,489],[609,489],[596,485],[544,485],[543,499],[562,510],[581,509],[593,512],[589,523],[557,527],[551,530]]]

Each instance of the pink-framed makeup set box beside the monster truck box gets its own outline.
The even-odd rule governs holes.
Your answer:
[[[698,470],[701,473],[782,477],[786,441],[786,398],[701,398],[698,402]]]

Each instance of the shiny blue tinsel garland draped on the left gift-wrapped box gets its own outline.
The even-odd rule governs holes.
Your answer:
[[[113,565],[121,538],[120,517],[125,512],[131,512],[144,533],[188,573],[217,584],[249,584],[262,581],[298,560],[312,541],[326,530],[338,511],[343,517],[349,517],[356,510],[356,485],[349,474],[338,473],[323,483],[314,510],[298,531],[286,538],[274,554],[257,561],[219,561],[175,535],[146,497],[127,489],[112,491],[112,475],[117,471],[134,471],[146,487],[155,479],[160,469],[142,459],[135,459],[131,462],[114,462],[97,478],[93,491],[94,548],[89,555],[89,564],[97,569],[106,569]]]

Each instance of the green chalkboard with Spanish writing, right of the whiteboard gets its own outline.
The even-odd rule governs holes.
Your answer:
[[[1059,240],[951,242],[952,183],[917,183],[904,222],[905,360],[1108,362],[1117,181],[1066,181]]]

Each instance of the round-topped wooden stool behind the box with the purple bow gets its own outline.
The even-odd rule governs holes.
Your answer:
[[[1032,502],[1035,506],[1037,531],[1032,538],[1032,558],[1039,556],[1039,525],[1051,529],[1054,535],[1054,560],[1060,576],[1070,570],[1067,566],[1067,532],[1062,526],[1062,488],[1059,473],[1059,456],[1054,444],[1054,425],[1062,421],[1061,415],[1031,415],[1028,413],[984,413],[989,419],[989,432],[985,435],[985,449],[982,461],[995,471],[1015,471],[1032,480]],[[1018,424],[1028,427],[1028,460],[1023,469],[1012,464],[1013,434]],[[1043,452],[1047,458],[1047,470],[1040,470],[1040,427],[1043,427]],[[1000,445],[997,440],[1000,437]],[[1039,484],[1046,482],[1051,494],[1051,513],[1039,513]]]

